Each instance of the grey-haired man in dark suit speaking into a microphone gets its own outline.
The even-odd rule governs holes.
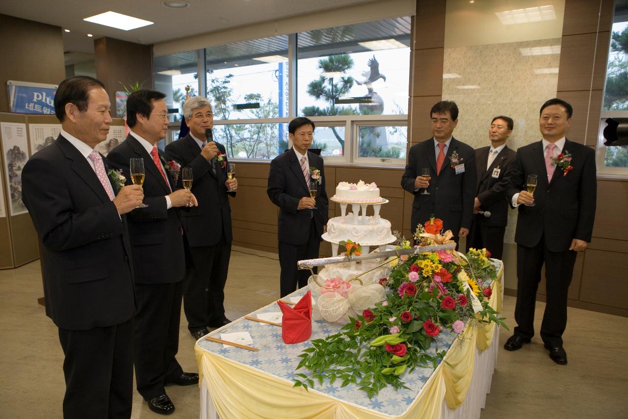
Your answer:
[[[181,210],[194,264],[183,279],[183,310],[188,330],[200,339],[209,333],[208,327],[230,323],[224,308],[233,238],[228,196],[236,196],[237,180],[227,179],[225,147],[212,138],[207,141],[206,130],[214,126],[209,101],[200,96],[187,99],[183,116],[190,133],[168,144],[165,155],[166,160],[174,160],[181,168],[190,166],[193,171],[192,193],[198,199],[198,207]],[[181,176],[178,184],[182,184]]]

